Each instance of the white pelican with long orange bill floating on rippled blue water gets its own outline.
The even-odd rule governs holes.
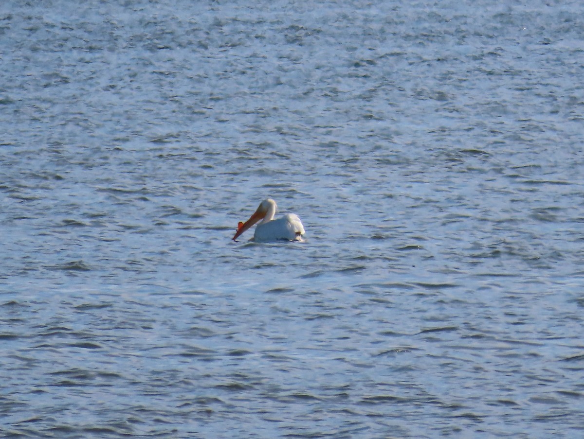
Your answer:
[[[300,222],[298,215],[285,214],[281,218],[274,219],[276,209],[276,201],[272,200],[272,198],[263,200],[262,203],[260,203],[258,210],[256,210],[245,223],[239,222],[233,241],[262,218],[262,222],[258,224],[255,232],[253,232],[253,241],[270,242],[279,241],[280,239],[302,241],[304,226],[302,225],[302,222]]]

